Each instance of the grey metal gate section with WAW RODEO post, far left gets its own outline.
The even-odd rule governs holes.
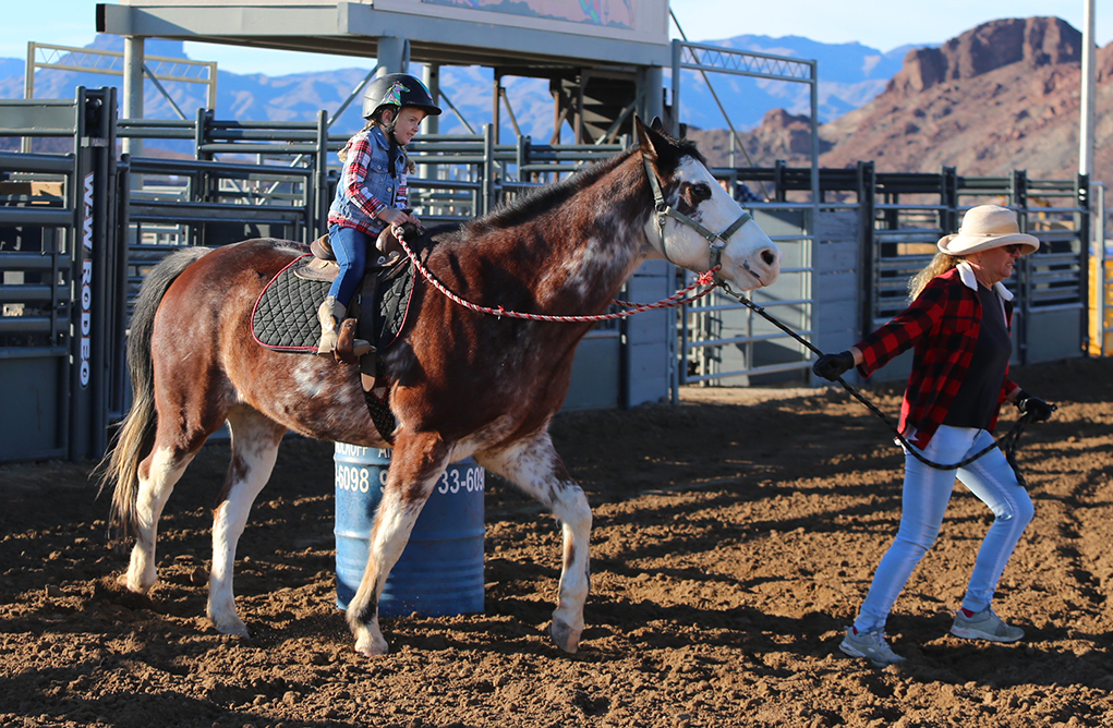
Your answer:
[[[71,151],[0,153],[0,460],[98,458],[124,396],[116,91],[4,111],[0,136]]]

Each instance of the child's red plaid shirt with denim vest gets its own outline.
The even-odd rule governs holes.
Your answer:
[[[408,207],[405,149],[398,148],[395,178],[390,175],[388,142],[378,127],[362,131],[348,142],[344,169],[341,171],[336,197],[328,208],[328,224],[353,227],[376,236],[386,224],[377,215],[387,207]],[[394,199],[391,186],[396,184]],[[386,199],[383,199],[386,198]]]

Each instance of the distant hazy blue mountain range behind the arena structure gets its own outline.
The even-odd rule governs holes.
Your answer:
[[[826,75],[820,71],[820,117],[831,120],[861,106],[881,92],[888,78],[899,69],[899,60],[892,56],[863,46],[861,43],[820,43],[791,36],[771,38],[768,36],[737,36],[725,41],[713,41],[725,47],[755,52],[779,51],[796,58],[816,57]],[[124,40],[118,36],[98,35],[87,48],[99,50],[122,50]],[[148,56],[186,58],[181,41],[149,38],[145,43]],[[892,52],[892,51],[890,51]],[[22,98],[24,61],[0,59],[0,98]],[[316,118],[319,109],[333,112],[347,97],[352,88],[371,70],[368,60],[365,68],[345,66],[334,71],[305,72],[283,76],[266,73],[239,75],[217,69],[218,118],[245,120],[303,120]],[[684,121],[696,127],[726,126],[725,120],[710,92],[692,71],[684,71],[686,88],[682,94]],[[491,120],[491,83],[489,69],[475,67],[443,67],[442,91],[452,104],[461,109],[473,128]],[[78,73],[58,70],[40,70],[36,73],[36,97],[71,98],[76,86],[99,88],[116,86],[119,77]],[[807,111],[809,92],[801,83],[786,83],[713,75],[712,83],[725,100],[736,128],[754,128],[761,121],[765,109],[785,107],[790,110]],[[546,80],[508,78],[508,95],[513,104],[514,116],[523,132],[536,139],[548,140],[552,136],[552,97]],[[189,117],[200,106],[204,96],[199,87],[176,83],[165,85],[175,102]],[[148,82],[146,116],[148,118],[175,118],[173,107]],[[357,128],[361,125],[358,104],[353,104],[334,128]],[[445,132],[463,131],[464,127],[451,110],[442,117]],[[505,120],[504,134],[513,134]]]

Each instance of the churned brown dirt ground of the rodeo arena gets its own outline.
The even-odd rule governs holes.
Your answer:
[[[574,656],[545,637],[554,522],[494,478],[485,612],[384,619],[368,660],[334,608],[331,444],[284,445],[240,540],[250,640],[204,617],[226,444],[170,499],[149,600],[114,587],[127,554],[88,464],[0,468],[0,725],[1113,726],[1113,360],[1014,378],[1060,404],[1022,443],[1036,518],[995,602],[1016,645],[947,633],[988,520],[958,485],[889,619],[906,666],[843,656],[899,519],[885,425],[836,390],[691,390],[554,423],[595,518]]]

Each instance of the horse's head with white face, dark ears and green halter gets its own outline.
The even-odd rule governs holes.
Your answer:
[[[634,126],[656,205],[646,224],[650,257],[697,272],[719,265],[718,278],[738,291],[776,281],[780,249],[719,186],[695,145],[666,135],[657,119]]]

